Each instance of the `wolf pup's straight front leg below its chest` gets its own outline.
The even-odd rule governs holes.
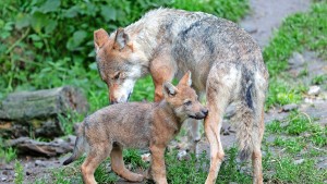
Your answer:
[[[165,149],[166,147],[150,146],[152,152],[152,168],[150,175],[153,176],[155,183],[167,184],[166,179],[166,165],[165,165]]]

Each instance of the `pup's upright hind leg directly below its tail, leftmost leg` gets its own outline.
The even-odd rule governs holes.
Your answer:
[[[94,172],[97,167],[109,156],[111,145],[99,144],[90,148],[85,161],[81,167],[83,181],[85,184],[96,184]]]

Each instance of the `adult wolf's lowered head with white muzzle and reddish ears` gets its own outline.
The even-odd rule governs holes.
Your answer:
[[[147,72],[146,58],[134,47],[130,35],[119,28],[110,36],[105,29],[94,32],[99,74],[109,89],[111,103],[126,102],[137,78]]]

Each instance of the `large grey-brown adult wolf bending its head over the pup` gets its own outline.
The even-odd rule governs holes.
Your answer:
[[[223,112],[237,103],[241,158],[252,156],[254,183],[263,183],[261,142],[268,72],[262,51],[234,23],[202,12],[158,9],[125,28],[94,33],[98,70],[109,88],[111,102],[128,101],[137,78],[149,73],[155,100],[162,98],[162,83],[192,72],[193,87],[205,94],[209,113],[204,122],[210,144],[206,183],[215,183],[223,149],[220,128]],[[192,121],[194,140],[197,122]]]

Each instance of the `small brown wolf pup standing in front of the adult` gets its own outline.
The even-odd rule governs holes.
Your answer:
[[[187,72],[177,87],[169,82],[164,83],[165,98],[160,102],[118,103],[96,111],[80,125],[73,155],[63,164],[87,151],[81,168],[83,180],[86,184],[96,183],[96,168],[110,156],[112,170],[118,175],[140,182],[143,175],[125,169],[122,148],[149,147],[152,165],[148,173],[156,183],[167,183],[166,146],[179,133],[185,119],[201,120],[208,113],[190,86],[191,73]]]

